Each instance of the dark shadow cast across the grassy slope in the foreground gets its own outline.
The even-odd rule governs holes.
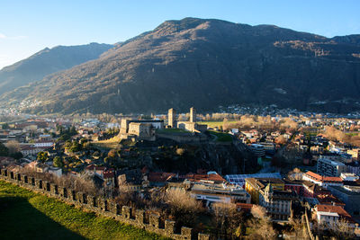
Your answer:
[[[1,239],[85,239],[31,206],[25,198],[0,198]]]

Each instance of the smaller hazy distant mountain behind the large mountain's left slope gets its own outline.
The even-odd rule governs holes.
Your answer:
[[[12,66],[0,70],[0,94],[18,86],[41,80],[44,76],[85,63],[113,45],[90,43],[80,46],[46,48]]]

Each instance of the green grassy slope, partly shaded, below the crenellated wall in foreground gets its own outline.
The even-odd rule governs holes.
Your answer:
[[[0,181],[1,239],[166,239]]]

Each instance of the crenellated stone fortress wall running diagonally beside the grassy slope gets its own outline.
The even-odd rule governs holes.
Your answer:
[[[210,235],[207,234],[199,233],[195,235],[190,227],[181,227],[180,233],[176,233],[175,221],[165,220],[165,222],[161,222],[159,216],[155,214],[148,215],[145,210],[131,209],[129,206],[119,206],[111,199],[94,197],[82,191],[73,191],[66,187],[34,177],[28,177],[21,173],[14,173],[7,169],[1,169],[0,180],[14,183],[31,191],[46,194],[49,197],[63,200],[77,207],[89,209],[99,215],[116,219],[122,223],[130,224],[161,236],[173,239],[210,239]]]

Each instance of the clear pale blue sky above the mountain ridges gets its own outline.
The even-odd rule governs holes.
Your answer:
[[[184,17],[360,34],[359,10],[359,0],[0,0],[0,69],[46,47],[115,43]]]

